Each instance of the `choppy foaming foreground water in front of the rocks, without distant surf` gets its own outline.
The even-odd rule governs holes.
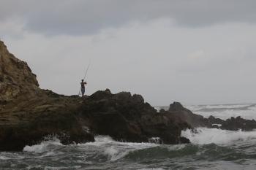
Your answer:
[[[214,161],[217,161],[217,163],[222,161],[243,162],[243,160],[255,160],[256,158],[255,150],[252,150],[256,142],[255,134],[241,131],[232,134],[230,131],[218,129],[215,131],[206,128],[197,128],[197,131],[197,134],[193,134],[191,131],[182,132],[183,135],[187,133],[187,137],[191,139],[192,144],[169,145],[116,142],[109,136],[96,136],[96,142],[85,144],[62,145],[58,140],[42,142],[34,146],[26,146],[23,152],[0,152],[0,158],[3,158],[0,162],[2,167],[10,167],[10,164],[8,164],[10,160],[7,159],[13,158],[11,161],[15,165],[12,166],[12,169],[19,169],[22,166],[24,169],[161,170],[170,169],[170,167],[172,169],[186,169],[188,166],[202,169],[203,167],[217,166]],[[229,142],[219,142],[217,137],[209,138],[209,136],[206,136],[206,134],[220,134],[219,131],[222,131],[222,133],[227,132],[227,134],[219,136],[220,139],[226,136],[225,140],[227,141],[229,141],[228,138],[230,136],[239,136],[238,134],[241,133],[240,137],[234,139],[235,143],[240,141],[244,144],[249,141],[248,145],[244,144],[239,148],[230,147],[225,145],[225,143]],[[192,134],[195,136],[192,136]],[[200,140],[203,142],[200,142]],[[231,141],[230,143],[232,143]],[[15,159],[18,157],[20,159]],[[39,160],[40,164],[34,160]],[[247,163],[248,161],[244,162]],[[202,165],[198,163],[202,163]]]

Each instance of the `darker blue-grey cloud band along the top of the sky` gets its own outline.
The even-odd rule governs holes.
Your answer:
[[[49,35],[94,34],[133,20],[157,18],[170,18],[183,27],[256,21],[254,0],[6,0],[0,3],[0,21],[23,18],[26,29]]]

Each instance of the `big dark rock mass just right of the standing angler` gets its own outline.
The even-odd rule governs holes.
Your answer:
[[[165,144],[178,144],[185,141],[181,130],[190,128],[183,120],[160,114],[136,94],[98,91],[83,102],[80,117],[89,120],[85,124],[91,131],[118,141],[148,142],[158,137]]]

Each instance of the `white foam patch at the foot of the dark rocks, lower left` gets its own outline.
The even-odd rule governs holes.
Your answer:
[[[62,146],[63,144],[61,144],[61,142],[58,139],[56,139],[55,141],[41,142],[41,144],[26,146],[23,148],[23,151],[24,152],[36,152],[36,153],[48,152],[50,150],[50,145]]]

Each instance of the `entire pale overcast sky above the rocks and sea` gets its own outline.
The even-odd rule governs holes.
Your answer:
[[[41,88],[150,104],[255,103],[255,0],[0,0],[0,39]]]

